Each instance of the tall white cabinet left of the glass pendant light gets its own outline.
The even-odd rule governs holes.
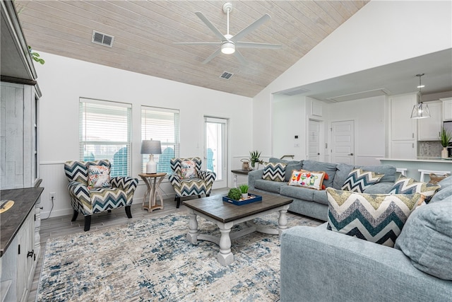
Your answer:
[[[417,93],[394,95],[389,98],[391,158],[412,159],[417,156],[417,123],[411,118],[417,98]]]

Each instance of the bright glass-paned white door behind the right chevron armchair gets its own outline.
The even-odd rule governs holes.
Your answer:
[[[203,168],[215,172],[213,189],[227,187],[227,120],[204,117]]]

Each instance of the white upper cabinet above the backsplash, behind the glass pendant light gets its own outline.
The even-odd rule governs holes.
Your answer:
[[[417,120],[418,141],[439,141],[441,131],[441,102],[425,102],[429,106],[430,117]]]

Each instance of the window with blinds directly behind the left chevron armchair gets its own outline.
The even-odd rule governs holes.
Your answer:
[[[130,175],[131,104],[80,99],[80,159],[112,163],[110,175]]]

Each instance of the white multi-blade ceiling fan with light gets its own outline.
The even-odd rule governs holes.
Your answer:
[[[223,54],[234,54],[234,56],[239,60],[240,63],[246,64],[246,60],[243,57],[243,55],[239,52],[238,48],[266,48],[270,50],[277,50],[281,48],[281,45],[277,44],[267,44],[267,43],[255,43],[255,42],[240,42],[239,40],[244,37],[245,35],[248,35],[253,31],[254,29],[258,28],[258,26],[262,25],[266,21],[270,20],[270,16],[268,14],[263,15],[261,18],[258,18],[254,23],[251,23],[246,28],[241,30],[236,35],[230,35],[229,33],[229,13],[232,11],[232,4],[230,2],[227,2],[223,4],[223,12],[227,14],[227,33],[226,35],[223,35],[220,33],[220,30],[218,30],[215,25],[210,23],[208,19],[201,13],[200,11],[196,11],[196,16],[205,23],[210,30],[213,31],[213,33],[220,38],[220,42],[175,42],[174,44],[181,44],[181,45],[220,45],[220,48],[213,52],[213,54],[210,54],[207,59],[203,61],[203,64],[206,64],[210,62],[214,57],[217,57],[220,52]]]

